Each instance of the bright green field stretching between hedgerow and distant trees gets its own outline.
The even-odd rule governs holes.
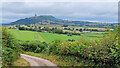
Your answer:
[[[76,40],[76,39],[80,39],[81,37],[92,38],[92,39],[102,37],[101,33],[85,33],[85,34],[81,34],[80,36],[78,36],[78,35],[67,36],[67,35],[64,35],[64,34],[33,32],[33,31],[16,30],[16,29],[9,29],[9,31],[18,40],[33,41],[34,37],[36,37],[35,39],[39,39],[39,41],[41,41],[41,42],[45,41],[47,43],[50,43],[55,39],[62,39],[64,41],[67,41],[68,39]]]

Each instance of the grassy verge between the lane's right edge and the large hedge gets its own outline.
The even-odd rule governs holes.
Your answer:
[[[67,55],[54,55],[54,54],[46,54],[46,53],[33,53],[33,52],[24,52],[24,54],[41,57],[51,62],[55,63],[58,66],[88,66],[90,62],[86,62],[86,60],[81,59],[75,56],[67,56]]]

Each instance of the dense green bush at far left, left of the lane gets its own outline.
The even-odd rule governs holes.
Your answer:
[[[15,41],[15,38],[2,28],[2,64],[3,66],[12,65],[12,63],[20,57],[20,46]]]

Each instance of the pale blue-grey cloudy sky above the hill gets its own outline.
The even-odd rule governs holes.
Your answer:
[[[59,19],[117,23],[118,2],[3,2],[2,23],[32,17],[35,13]]]

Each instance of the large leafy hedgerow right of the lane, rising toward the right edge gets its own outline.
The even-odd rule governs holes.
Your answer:
[[[108,31],[103,39],[81,38],[74,42],[60,42],[55,40],[50,44],[49,51],[58,55],[74,55],[89,59],[100,65],[120,65],[120,45],[118,43],[118,29]]]

